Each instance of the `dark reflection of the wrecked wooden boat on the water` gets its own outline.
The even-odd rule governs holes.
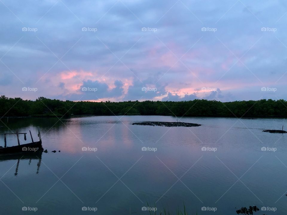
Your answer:
[[[20,164],[20,160],[29,160],[29,165],[31,164],[32,160],[38,160],[37,163],[37,168],[36,168],[36,174],[39,173],[40,170],[40,166],[41,166],[41,161],[42,161],[42,151],[36,152],[36,153],[17,153],[17,154],[10,154],[10,155],[1,155],[0,156],[0,162],[3,161],[10,161],[10,160],[18,160],[17,164],[16,164],[16,169],[15,169],[15,173],[14,175],[17,176],[18,175],[18,170],[19,170],[19,164]]]

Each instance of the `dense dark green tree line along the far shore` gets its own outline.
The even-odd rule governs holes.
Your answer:
[[[35,101],[0,97],[0,116],[71,115],[176,115],[205,117],[278,117],[287,118],[287,101],[262,99],[258,101],[220,102],[191,101],[124,101],[90,102],[61,101],[39,97]]]

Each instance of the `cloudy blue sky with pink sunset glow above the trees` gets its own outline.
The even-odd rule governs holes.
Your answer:
[[[284,0],[0,0],[0,95],[285,99]]]

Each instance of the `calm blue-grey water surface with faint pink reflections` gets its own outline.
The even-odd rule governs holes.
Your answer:
[[[34,141],[40,126],[49,153],[23,157],[18,165],[17,156],[0,158],[0,213],[27,214],[22,207],[30,207],[39,214],[149,214],[142,211],[149,202],[156,203],[157,212],[163,207],[175,212],[184,203],[190,214],[236,214],[235,208],[249,205],[276,208],[265,214],[285,214],[287,136],[262,132],[282,128],[283,120],[186,117],[181,121],[202,126],[159,127],[131,123],[176,119],[119,118],[11,119],[9,129],[2,123],[1,133],[31,130]],[[30,135],[20,140],[31,142]],[[7,145],[15,144],[9,136]]]

